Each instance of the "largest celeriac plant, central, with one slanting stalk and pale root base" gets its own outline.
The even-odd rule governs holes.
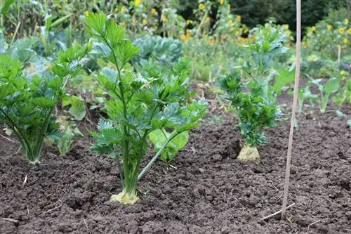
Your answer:
[[[117,159],[123,190],[112,195],[111,200],[133,204],[138,200],[138,180],[174,138],[199,126],[199,119],[206,113],[206,103],[189,101],[192,93],[186,61],[180,60],[171,71],[165,72],[143,60],[141,73],[135,74],[129,62],[139,48],[125,39],[124,29],[102,13],[89,14],[86,25],[98,40],[93,46],[94,52],[114,65],[114,69],[102,68],[97,76],[110,96],[105,104],[109,118],[100,119],[99,132],[93,133],[96,143],[91,150]],[[157,129],[173,131],[165,135],[166,141],[139,173],[147,152],[147,138]]]

